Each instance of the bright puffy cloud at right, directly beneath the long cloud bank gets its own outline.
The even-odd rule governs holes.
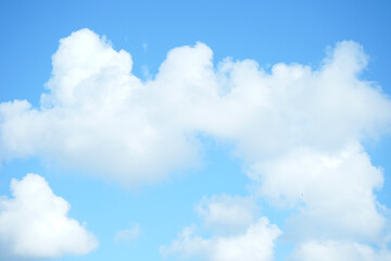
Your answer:
[[[254,165],[250,176],[260,192],[278,206],[300,207],[289,229],[298,236],[353,237],[378,240],[386,217],[374,189],[382,186],[379,169],[358,145],[338,153],[297,149]]]

